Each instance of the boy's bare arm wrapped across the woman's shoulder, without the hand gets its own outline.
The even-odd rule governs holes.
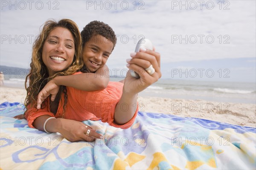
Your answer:
[[[103,90],[108,86],[109,70],[108,66],[104,65],[102,68],[99,68],[95,73],[58,76],[52,80],[58,86],[64,85],[82,91]]]

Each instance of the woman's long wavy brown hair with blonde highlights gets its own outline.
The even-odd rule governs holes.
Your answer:
[[[42,59],[42,51],[44,42],[47,40],[50,32],[56,28],[62,27],[67,28],[71,34],[73,35],[75,41],[75,55],[72,64],[66,68],[65,70],[55,73],[53,76],[49,77],[47,67]],[[30,72],[26,76],[25,80],[25,88],[26,88],[26,99],[25,106],[26,110],[28,110],[28,106],[30,108],[36,108],[36,101],[38,97],[38,93],[44,88],[44,86],[49,82],[49,80],[53,79],[56,76],[70,75],[76,73],[83,66],[83,61],[81,58],[82,54],[82,43],[81,43],[81,34],[79,32],[79,28],[75,22],[69,19],[62,19],[58,22],[54,20],[48,20],[44,23],[44,27],[41,30],[41,33],[36,38],[33,48],[32,48],[32,61],[30,63]],[[28,83],[29,82],[29,83]],[[27,84],[29,84],[27,86]],[[58,97],[60,97],[61,93],[64,92],[64,106],[67,103],[67,90],[65,86],[61,86],[58,92]],[[42,108],[44,108],[45,103],[42,103]],[[26,113],[26,112],[25,112]]]

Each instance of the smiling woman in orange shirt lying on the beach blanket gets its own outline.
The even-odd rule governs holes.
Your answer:
[[[86,43],[92,45],[88,46],[87,52],[98,55],[97,51],[107,49],[106,51],[111,53],[113,43],[103,41],[102,44],[97,44],[97,36],[99,35],[94,35]],[[26,82],[30,80],[29,86],[26,87],[25,101],[25,117],[29,127],[35,127],[47,133],[59,132],[72,142],[92,141],[95,137],[102,137],[91,127],[84,125],[81,122],[84,120],[102,119],[102,122],[108,122],[115,127],[130,127],[138,111],[137,93],[161,77],[160,54],[142,49],[141,52],[131,55],[133,58],[127,66],[133,70],[141,70],[148,68],[148,64],[151,64],[155,69],[154,74],[150,75],[144,71],[139,73],[141,76],[139,79],[127,74],[124,84],[109,82],[108,87],[100,91],[81,91],[60,86],[55,100],[51,101],[48,97],[43,103],[39,103],[41,106],[37,109],[38,92],[49,80],[62,75],[81,74],[76,72],[83,67],[79,44],[81,44],[80,33],[73,21],[60,20],[58,23],[47,21],[33,45],[31,71],[26,77]],[[89,62],[95,66],[101,64],[90,59]],[[80,80],[76,79],[77,82]],[[87,79],[87,81],[90,80]],[[91,84],[91,86],[94,85]],[[126,111],[121,108],[124,104],[128,107]],[[95,106],[97,106],[96,109],[94,109]]]

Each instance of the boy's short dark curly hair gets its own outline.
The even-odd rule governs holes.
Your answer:
[[[113,49],[116,45],[116,34],[113,29],[108,25],[100,21],[92,21],[88,23],[83,31],[81,31],[82,44],[84,45],[94,36],[101,35],[113,43]],[[113,51],[112,49],[112,51]]]

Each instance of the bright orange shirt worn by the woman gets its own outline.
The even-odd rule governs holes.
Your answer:
[[[109,125],[126,129],[133,124],[137,112],[129,122],[117,125],[113,122],[116,104],[122,96],[123,84],[120,82],[109,82],[107,88],[100,91],[81,91],[76,88],[67,87],[67,104],[64,112],[64,94],[58,105],[58,111],[54,115],[50,111],[49,97],[45,101],[43,109],[28,108],[25,117],[29,127],[33,127],[34,120],[42,115],[49,115],[56,118],[72,119],[76,121],[99,120],[108,122]],[[125,105],[125,104],[123,104]],[[124,107],[125,108],[125,107]],[[135,108],[135,107],[134,107]]]

